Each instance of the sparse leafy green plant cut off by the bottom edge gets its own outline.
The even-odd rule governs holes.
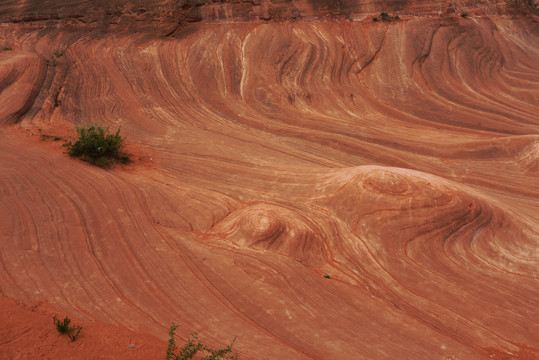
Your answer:
[[[198,340],[197,333],[193,333],[188,339],[187,343],[185,343],[181,349],[178,349],[176,346],[176,341],[174,339],[174,332],[178,328],[178,325],[175,325],[172,323],[172,326],[170,327],[170,330],[168,332],[169,339],[168,339],[168,347],[167,347],[167,354],[165,356],[165,360],[188,360],[193,359],[193,357],[197,354],[204,354],[204,357],[201,358],[201,360],[238,360],[239,356],[236,353],[232,352],[232,345],[234,345],[234,342],[236,339],[232,341],[230,345],[228,345],[225,348],[219,349],[219,350],[213,350],[201,343]]]

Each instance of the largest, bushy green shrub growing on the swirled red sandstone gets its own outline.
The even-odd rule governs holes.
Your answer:
[[[130,161],[129,154],[124,149],[124,138],[120,136],[120,129],[115,134],[109,134],[109,128],[92,125],[89,128],[78,128],[79,139],[64,144],[67,153],[72,157],[79,157],[90,164],[107,166],[113,162],[126,164]]]

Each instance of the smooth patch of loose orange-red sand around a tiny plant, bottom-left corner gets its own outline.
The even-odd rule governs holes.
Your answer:
[[[153,336],[97,321],[71,318],[82,326],[72,342],[54,327],[64,319],[47,303],[24,304],[0,297],[0,357],[2,359],[160,359],[166,343]],[[131,346],[131,347],[130,347]],[[163,356],[159,356],[163,355]]]

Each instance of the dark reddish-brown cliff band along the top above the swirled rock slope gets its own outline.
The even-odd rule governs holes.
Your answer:
[[[4,1],[0,20],[71,19],[109,24],[121,20],[160,22],[238,22],[257,20],[361,19],[385,11],[392,14],[435,16],[447,13],[503,14],[533,12],[531,0],[366,1],[366,0],[29,0]]]

